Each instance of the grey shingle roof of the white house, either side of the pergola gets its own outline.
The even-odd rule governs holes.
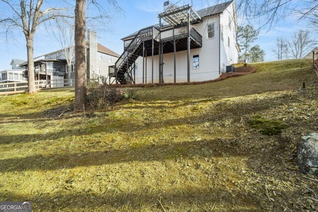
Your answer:
[[[219,4],[214,5],[214,6],[209,6],[209,7],[197,10],[196,12],[198,13],[198,15],[201,18],[208,17],[208,16],[211,16],[211,15],[216,15],[216,14],[222,13],[233,1],[234,0],[230,0],[230,1],[227,1],[227,2],[219,3]],[[155,25],[152,25],[152,26],[159,28],[159,24],[155,24]],[[145,28],[149,28],[149,27],[152,27],[152,26],[148,26],[148,27],[145,27]],[[164,27],[166,27],[166,26],[163,26],[163,28]],[[134,32],[134,33],[132,33],[132,34],[130,34],[128,36],[125,36],[121,40],[124,40],[126,38],[130,38],[130,37],[134,37],[134,36],[137,35],[137,33],[139,31],[140,30],[138,30],[138,31],[136,31],[136,32]]]

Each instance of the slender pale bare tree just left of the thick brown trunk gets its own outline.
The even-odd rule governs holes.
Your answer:
[[[72,20],[56,19],[57,31],[54,32],[55,38],[59,41],[63,54],[67,62],[68,79],[71,85],[72,64],[75,61],[75,41],[74,24]]]

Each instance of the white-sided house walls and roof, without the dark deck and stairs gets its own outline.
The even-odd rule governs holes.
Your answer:
[[[180,11],[177,13],[179,17],[186,16],[187,13],[182,14],[183,10],[185,10],[187,5],[177,7],[173,4],[166,5],[167,2],[165,2],[166,10],[166,16],[173,13],[177,10]],[[170,10],[169,10],[170,9]],[[179,9],[179,10],[178,10]],[[189,10],[190,12],[193,12],[194,9],[191,7]],[[163,12],[163,13],[164,13]],[[161,13],[162,14],[162,13]],[[197,11],[194,11],[192,16],[197,15],[197,19],[194,19],[191,21],[191,25],[189,28],[193,28],[194,31],[200,34],[202,37],[199,39],[199,42],[194,39],[196,36],[191,37],[191,50],[189,50],[189,60],[190,60],[190,70],[189,70],[189,76],[188,76],[188,48],[181,47],[182,45],[187,45],[186,36],[181,36],[178,39],[176,43],[176,49],[179,48],[179,50],[176,50],[176,58],[175,58],[175,67],[174,67],[174,51],[172,51],[166,47],[167,45],[171,45],[170,42],[173,43],[173,40],[175,38],[169,40],[169,41],[161,41],[163,39],[163,36],[167,34],[167,30],[171,29],[173,30],[173,36],[175,35],[175,29],[182,28],[182,23],[184,25],[184,22],[181,21],[181,24],[175,24],[175,25],[167,25],[166,22],[164,22],[166,25],[154,25],[152,27],[155,27],[153,29],[154,32],[148,32],[149,27],[142,29],[140,31],[137,31],[122,40],[124,41],[124,51],[127,51],[125,47],[127,47],[131,42],[136,42],[137,36],[140,36],[140,33],[143,33],[143,30],[146,31],[148,34],[150,33],[151,36],[154,34],[153,37],[155,37],[155,31],[158,30],[159,34],[161,36],[161,40],[159,40],[159,46],[160,43],[163,45],[163,59],[161,62],[161,67],[159,65],[159,55],[160,50],[158,50],[159,47],[155,46],[155,49],[159,53],[154,55],[154,65],[153,65],[153,57],[152,57],[152,50],[149,50],[149,47],[151,46],[151,43],[147,45],[148,50],[145,50],[146,53],[139,53],[139,57],[135,61],[131,61],[128,58],[123,58],[123,64],[135,64],[135,66],[131,65],[131,72],[135,72],[135,74],[131,73],[130,77],[127,78],[133,78],[132,83],[169,83],[169,82],[187,82],[189,81],[205,81],[205,80],[211,80],[218,78],[220,74],[226,72],[226,66],[238,63],[238,56],[239,56],[239,47],[237,45],[236,41],[236,32],[237,32],[237,17],[236,17],[236,9],[235,9],[235,2],[228,1],[225,3],[217,4],[208,8],[200,9]],[[159,14],[160,17],[160,14]],[[162,15],[163,17],[163,15]],[[160,17],[161,18],[161,17]],[[174,16],[170,15],[168,17],[168,21],[170,19],[173,19]],[[160,19],[161,20],[161,19]],[[175,20],[171,20],[173,23]],[[162,23],[162,22],[161,22]],[[188,27],[188,26],[186,26]],[[184,28],[187,30],[186,28]],[[160,31],[161,30],[161,31]],[[186,33],[189,30],[186,31]],[[165,34],[164,34],[165,33]],[[145,33],[144,33],[145,34]],[[148,35],[141,35],[141,39],[143,40]],[[172,31],[170,33],[172,35]],[[190,33],[189,33],[190,34]],[[187,34],[185,34],[187,35]],[[190,35],[189,35],[190,36]],[[152,38],[153,39],[153,38]],[[182,43],[183,39],[183,43]],[[145,39],[144,39],[145,40]],[[146,41],[144,41],[146,43]],[[146,44],[140,44],[140,45],[146,45]],[[129,47],[129,46],[128,46]],[[172,45],[173,47],[173,45]],[[166,48],[166,49],[164,49]],[[129,48],[128,48],[129,49]],[[137,47],[135,48],[137,49]],[[155,50],[155,51],[156,51]],[[162,51],[162,50],[161,50]],[[135,53],[128,53],[129,57],[133,57]],[[144,56],[144,57],[143,57]],[[145,58],[145,60],[144,60]],[[121,65],[117,68],[118,74],[121,73],[122,67],[127,67],[128,65]],[[153,68],[154,67],[154,68]],[[127,68],[125,68],[127,70]],[[160,81],[160,69],[162,69],[161,73],[163,75],[163,81]],[[174,69],[176,69],[176,74],[174,76]],[[129,69],[128,69],[129,71]],[[146,73],[147,71],[147,73]],[[127,73],[125,73],[127,76]],[[114,74],[115,75],[115,74]],[[129,75],[129,74],[128,74]],[[175,81],[174,81],[175,77]],[[126,82],[120,81],[120,83]]]

